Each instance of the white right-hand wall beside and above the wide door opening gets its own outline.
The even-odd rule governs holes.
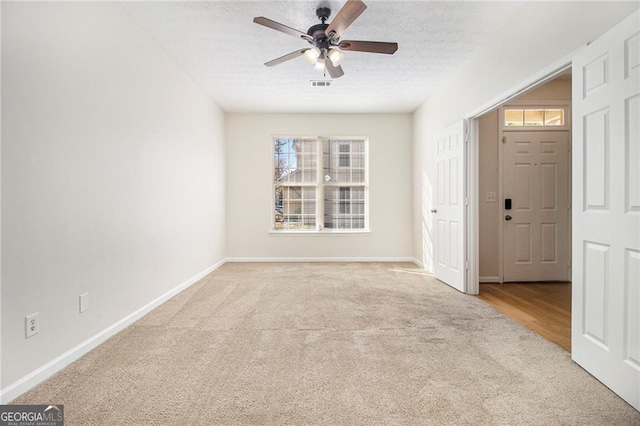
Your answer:
[[[530,2],[414,114],[414,257],[432,269],[434,135],[596,39],[638,2]]]

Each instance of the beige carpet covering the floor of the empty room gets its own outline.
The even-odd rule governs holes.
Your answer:
[[[227,264],[15,403],[68,425],[639,425],[558,346],[411,264]]]

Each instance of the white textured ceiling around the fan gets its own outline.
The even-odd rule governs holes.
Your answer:
[[[365,0],[343,40],[395,41],[394,55],[345,52],[329,88],[302,57],[263,64],[309,45],[253,23],[265,16],[306,32],[346,0],[123,2],[125,10],[227,112],[412,112],[523,6],[523,2]]]

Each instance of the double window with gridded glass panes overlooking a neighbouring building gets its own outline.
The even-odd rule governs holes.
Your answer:
[[[274,137],[276,231],[366,230],[366,138]]]

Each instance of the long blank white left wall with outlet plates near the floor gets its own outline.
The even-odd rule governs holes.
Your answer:
[[[226,238],[224,114],[182,69],[117,4],[2,8],[6,395],[223,261]]]

